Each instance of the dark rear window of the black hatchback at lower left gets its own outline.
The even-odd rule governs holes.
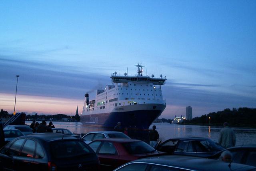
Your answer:
[[[50,144],[51,153],[55,158],[67,158],[94,153],[82,141],[55,141]]]

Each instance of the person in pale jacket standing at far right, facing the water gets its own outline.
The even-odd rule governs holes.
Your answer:
[[[223,123],[224,128],[220,130],[220,136],[218,143],[224,148],[234,147],[236,145],[236,135],[229,127],[227,122]]]

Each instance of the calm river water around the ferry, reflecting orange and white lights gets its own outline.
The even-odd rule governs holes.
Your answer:
[[[26,121],[30,125],[32,121]],[[49,122],[47,121],[47,124]],[[73,133],[88,133],[90,131],[103,130],[99,127],[88,127],[80,122],[53,122],[55,127],[69,129]],[[209,137],[218,142],[218,137],[222,127],[199,126],[199,125],[176,125],[169,123],[153,123],[159,133],[159,139],[165,141],[175,137]],[[152,129],[152,125],[150,129]],[[255,144],[256,128],[232,128],[236,133],[236,145]]]

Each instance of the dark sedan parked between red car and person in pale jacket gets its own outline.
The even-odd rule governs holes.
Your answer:
[[[211,156],[224,148],[209,138],[180,137],[164,141],[156,146],[158,151],[172,155]]]

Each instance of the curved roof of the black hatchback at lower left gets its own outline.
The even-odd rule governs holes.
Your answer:
[[[66,135],[62,133],[32,133],[30,135],[26,135],[23,137],[36,138],[42,141],[54,141],[54,140],[60,140],[60,139],[78,140],[77,138],[72,137],[71,135]]]

